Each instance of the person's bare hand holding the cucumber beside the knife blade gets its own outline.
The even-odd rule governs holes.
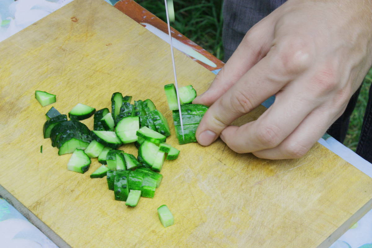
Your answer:
[[[302,157],[344,112],[372,64],[372,1],[288,0],[251,28],[193,103],[211,106],[196,131],[235,152]],[[268,97],[256,121],[230,125]]]

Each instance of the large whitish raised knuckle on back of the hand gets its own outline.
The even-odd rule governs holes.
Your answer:
[[[301,37],[288,36],[278,42],[274,70],[279,74],[293,75],[310,66],[313,44]]]

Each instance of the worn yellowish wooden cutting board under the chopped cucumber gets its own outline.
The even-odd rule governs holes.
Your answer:
[[[72,247],[327,247],[371,209],[372,179],[319,144],[298,160],[262,160],[219,140],[178,145],[173,125],[179,158],[165,162],[154,199],[126,207],[106,178],[89,178],[96,159],[85,174],[67,171],[70,155],[42,137],[44,114],[110,107],[120,91],[152,99],[172,123],[169,45],[103,0],[75,0],[1,42],[0,54],[0,184]],[[179,51],[175,58],[180,85],[205,91],[215,75]],[[41,107],[35,90],[57,102]],[[92,128],[93,118],[83,122]],[[121,149],[137,155],[132,144]],[[173,226],[158,220],[161,204]]]

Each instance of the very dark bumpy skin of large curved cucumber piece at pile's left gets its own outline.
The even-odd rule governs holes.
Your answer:
[[[90,136],[90,130],[84,123],[77,120],[67,120],[58,123],[52,128],[50,132],[52,146],[57,146],[56,141],[58,136],[67,135],[68,133],[81,133],[81,135],[85,135],[86,137]]]

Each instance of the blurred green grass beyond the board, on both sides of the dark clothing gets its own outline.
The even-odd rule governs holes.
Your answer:
[[[145,9],[166,21],[164,1],[136,0]],[[173,0],[176,19],[171,26],[180,33],[224,60],[222,46],[222,0]],[[366,75],[354,112],[350,118],[349,130],[344,145],[356,150],[363,116],[368,101],[368,90],[372,83],[372,68]]]

